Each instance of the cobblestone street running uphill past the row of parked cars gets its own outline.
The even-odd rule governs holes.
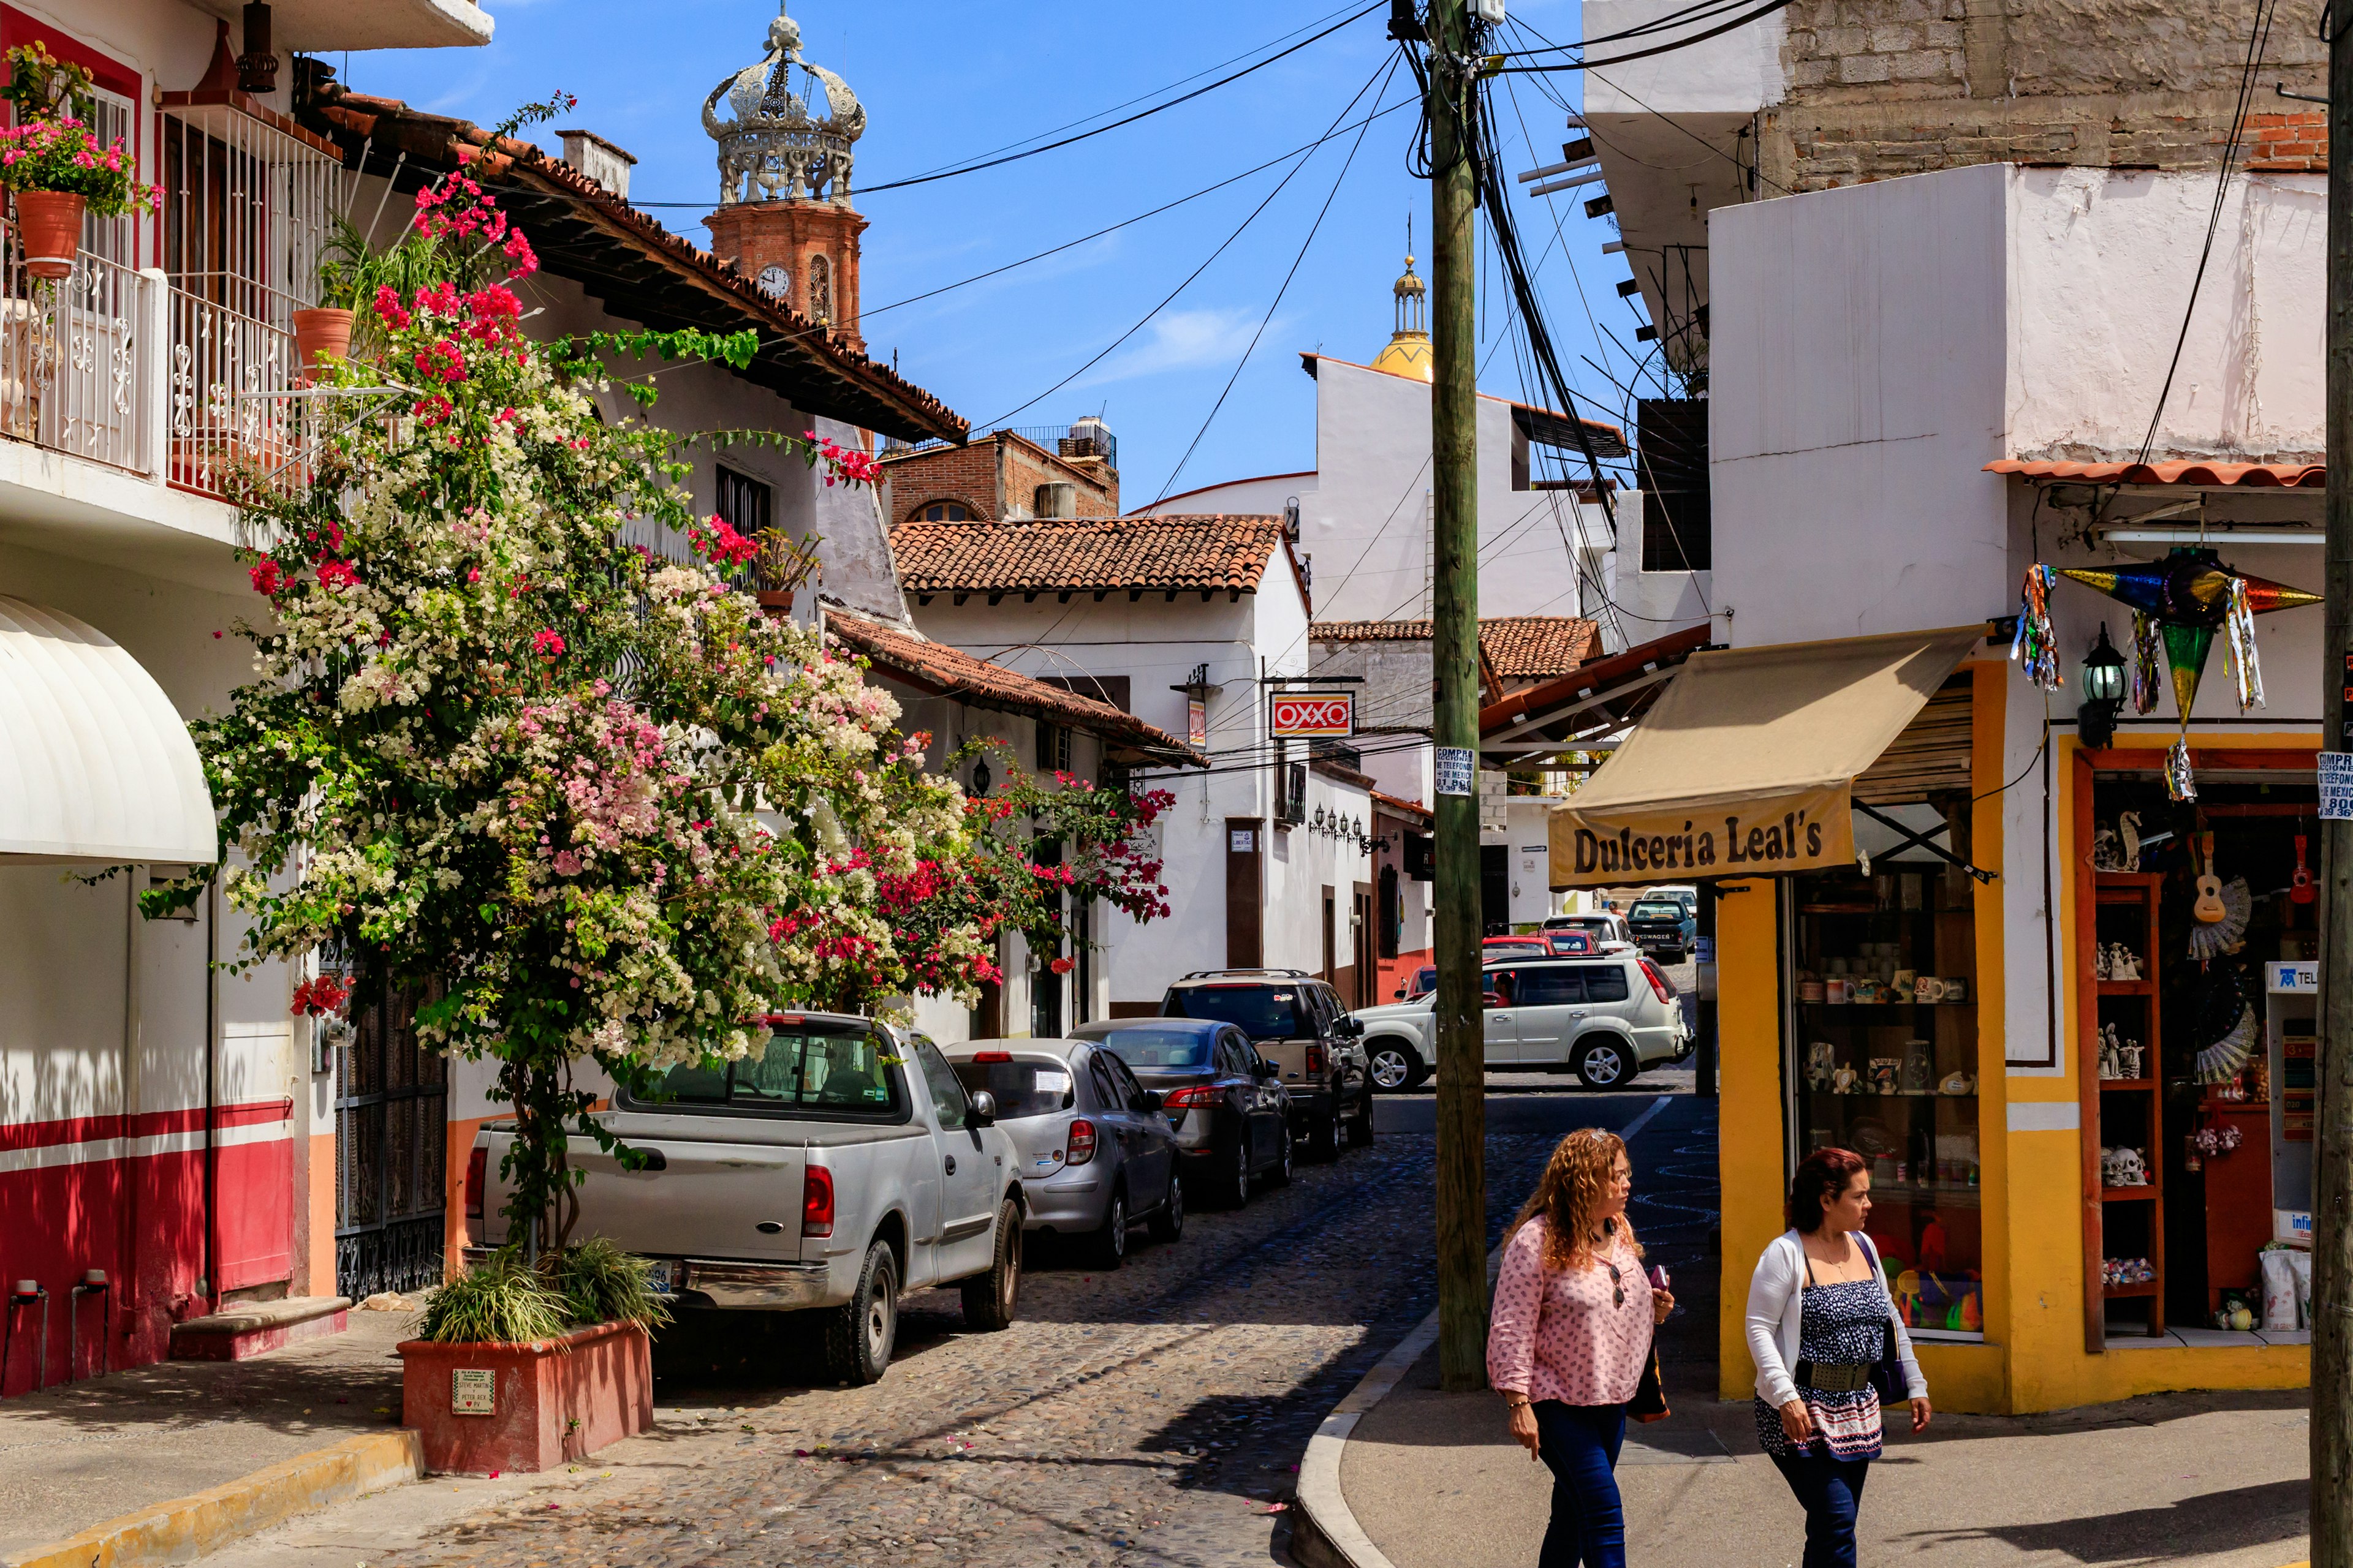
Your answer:
[[[1626,1126],[1654,1105],[1652,1093],[1534,1084],[1520,1093],[1499,1084],[1487,1100],[1489,1239],[1562,1131]],[[1652,1074],[1645,1086],[1682,1088],[1685,1074]],[[671,1335],[656,1352],[661,1429],[586,1474],[471,1500],[466,1490],[482,1483],[452,1495],[447,1481],[428,1481],[289,1526],[226,1561],[1282,1561],[1287,1521],[1275,1505],[1292,1495],[1308,1436],[1433,1305],[1431,1098],[1384,1100],[1381,1119],[1372,1150],[1301,1166],[1289,1190],[1264,1190],[1240,1213],[1195,1213],[1176,1246],[1139,1237],[1113,1274],[1033,1244],[1021,1321],[1007,1333],[965,1333],[948,1293],[911,1295],[899,1356],[875,1387],[807,1387],[809,1363],[784,1333],[746,1342],[744,1319],[732,1319],[720,1324],[725,1340]],[[1635,1143],[1638,1166],[1671,1166],[1694,1135],[1713,1147],[1713,1105],[1666,1100]],[[1697,1166],[1713,1180],[1711,1159]],[[1671,1269],[1697,1258],[1687,1244],[1704,1244],[1713,1218],[1713,1194],[1678,1199],[1680,1182],[1661,1168],[1654,1206],[1635,1208]],[[447,1521],[426,1526],[419,1509]]]

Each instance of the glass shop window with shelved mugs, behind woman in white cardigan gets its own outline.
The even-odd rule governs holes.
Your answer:
[[[1889,865],[1791,879],[1793,1157],[1871,1161],[1871,1241],[1918,1338],[1984,1335],[1977,884]]]

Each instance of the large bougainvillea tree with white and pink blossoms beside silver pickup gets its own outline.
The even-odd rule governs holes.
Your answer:
[[[525,339],[532,247],[464,176],[405,244],[440,280],[369,301],[381,348],[327,371],[344,411],[306,482],[242,494],[254,679],[195,736],[240,851],[238,961],[325,950],[360,999],[431,985],[421,1034],[494,1058],[518,1121],[511,1234],[560,1244],[567,1135],[616,1147],[576,1063],[645,1088],[760,1051],[765,1013],[969,999],[1002,924],[1047,929],[1047,879],[1160,907],[1127,849],[1158,802],[1080,780],[967,802],[854,661],[727,585],[758,543],[694,515],[696,437],[607,423],[593,393],[647,404],[616,360],[744,364],[753,334]],[[871,477],[864,454],[774,444]],[[647,522],[692,557],[624,543]],[[1040,870],[1035,832],[1071,865]],[[311,983],[296,1011],[341,1001]]]

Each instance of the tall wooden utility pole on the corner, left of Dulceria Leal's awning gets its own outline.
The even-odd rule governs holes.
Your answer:
[[[1478,950],[1478,360],[1466,0],[1431,0],[1431,491],[1438,698],[1438,1375],[1487,1387],[1487,1020]],[[1449,792],[1461,790],[1461,792]]]

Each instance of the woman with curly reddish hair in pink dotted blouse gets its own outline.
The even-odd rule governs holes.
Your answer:
[[[1487,1328],[1487,1382],[1511,1434],[1553,1472],[1553,1521],[1537,1568],[1624,1568],[1617,1455],[1652,1331],[1675,1298],[1642,1276],[1626,1225],[1633,1164],[1617,1133],[1584,1128],[1553,1150],[1504,1244]]]

